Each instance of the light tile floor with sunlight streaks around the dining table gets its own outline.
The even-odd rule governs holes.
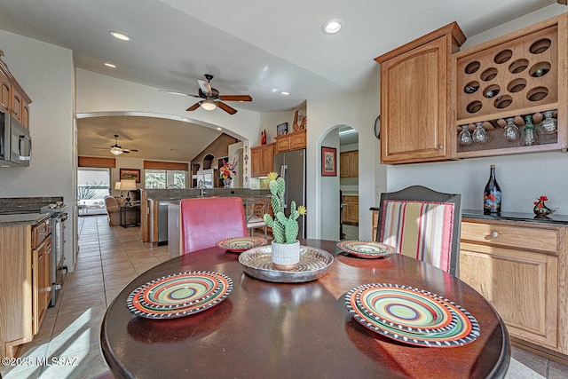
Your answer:
[[[108,226],[106,216],[80,217],[79,233],[75,272],[69,274],[58,304],[47,310],[34,341],[20,351],[20,357],[30,361],[56,357],[67,358],[69,364],[0,367],[0,377],[79,379],[108,374],[99,344],[106,307],[130,280],[169,259],[168,246],[150,247],[140,241],[138,227]],[[566,366],[516,347],[512,351],[508,379],[568,378]]]

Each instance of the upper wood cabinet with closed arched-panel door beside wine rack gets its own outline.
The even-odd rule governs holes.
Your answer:
[[[451,54],[465,36],[457,23],[375,58],[381,65],[381,162],[453,158]]]

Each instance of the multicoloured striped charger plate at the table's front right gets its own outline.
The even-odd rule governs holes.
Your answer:
[[[345,295],[345,305],[364,327],[403,343],[453,347],[471,343],[479,336],[479,324],[469,312],[442,296],[419,288],[389,283],[365,284],[352,288]],[[447,314],[441,308],[450,312],[452,321],[437,328],[437,322],[431,319],[436,312]],[[377,317],[377,314],[385,317]],[[439,325],[445,323],[446,320],[442,320]]]

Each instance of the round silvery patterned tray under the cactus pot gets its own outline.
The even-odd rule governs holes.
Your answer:
[[[334,262],[334,256],[322,249],[300,246],[300,263],[293,270],[283,271],[272,267],[272,247],[249,249],[239,256],[239,262],[253,278],[279,283],[301,283],[325,275]]]

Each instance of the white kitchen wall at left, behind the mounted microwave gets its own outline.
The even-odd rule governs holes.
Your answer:
[[[73,206],[74,67],[67,49],[0,30],[3,60],[32,99],[29,167],[0,169],[0,197],[63,196]],[[70,220],[75,207],[69,207]],[[74,223],[67,222],[66,265],[74,265]]]

